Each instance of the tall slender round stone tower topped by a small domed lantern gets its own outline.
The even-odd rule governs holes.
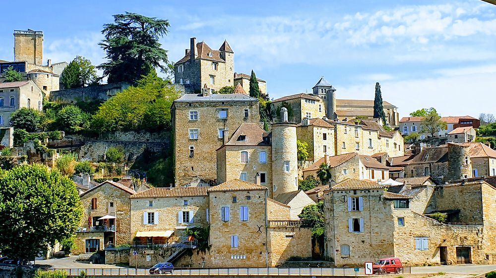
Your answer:
[[[298,190],[296,123],[289,122],[287,114],[283,107],[281,119],[272,124],[272,198]]]

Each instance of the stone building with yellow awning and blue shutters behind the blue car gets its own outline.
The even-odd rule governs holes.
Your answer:
[[[209,248],[193,252],[201,254],[190,260],[193,267],[274,267],[311,256],[310,230],[290,220],[290,207],[267,198],[262,185],[236,179],[212,187],[150,188],[130,203],[130,240],[154,250],[140,267],[172,259],[167,250],[187,242],[186,228],[207,226]]]

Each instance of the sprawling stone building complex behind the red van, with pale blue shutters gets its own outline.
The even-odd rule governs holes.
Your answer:
[[[325,251],[336,266],[381,257],[401,258],[404,265],[495,261],[493,185],[478,181],[405,185],[399,193],[384,189],[350,179],[325,192]],[[434,212],[445,213],[447,221],[431,218]]]

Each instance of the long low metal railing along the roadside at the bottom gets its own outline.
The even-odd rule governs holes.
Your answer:
[[[84,271],[87,276],[144,276],[151,275],[149,269],[51,269],[65,271],[69,276],[78,276]],[[410,267],[403,267],[398,274],[410,274]],[[215,268],[174,269],[174,276],[365,276],[364,268]]]

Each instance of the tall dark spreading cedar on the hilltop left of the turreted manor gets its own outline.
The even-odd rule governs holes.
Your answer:
[[[115,23],[105,24],[105,39],[99,45],[107,52],[108,62],[98,66],[108,82],[135,83],[158,67],[169,70],[167,50],[159,39],[168,33],[169,21],[126,12],[114,15]]]

